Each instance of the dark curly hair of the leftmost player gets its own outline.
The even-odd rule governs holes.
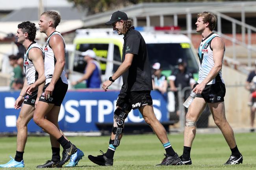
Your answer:
[[[25,21],[20,24],[18,24],[18,28],[22,30],[22,33],[28,33],[28,39],[30,41],[35,40],[35,35],[37,32],[37,27],[35,26],[35,23],[30,21]]]

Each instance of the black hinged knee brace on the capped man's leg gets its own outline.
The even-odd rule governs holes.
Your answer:
[[[124,132],[124,120],[128,116],[128,113],[125,112],[126,108],[128,107],[128,104],[124,104],[122,109],[117,108],[114,112],[115,115],[118,116],[117,119],[117,127],[112,128],[112,132],[115,135],[114,140],[109,140],[109,144],[113,144],[113,146],[119,146],[120,140],[119,140],[119,135],[121,135]]]

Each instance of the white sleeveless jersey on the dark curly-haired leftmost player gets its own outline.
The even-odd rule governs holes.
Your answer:
[[[30,46],[28,46],[28,49],[25,51],[23,65],[24,65],[24,69],[25,69],[25,73],[26,73],[26,80],[27,80],[28,84],[32,84],[38,79],[38,73],[35,70],[35,66],[34,66],[32,60],[30,60],[29,55],[28,55],[28,52],[32,48],[39,48],[39,49],[41,49],[42,53],[44,53],[43,49],[39,46],[39,44],[37,44],[37,42],[32,42],[30,44]]]

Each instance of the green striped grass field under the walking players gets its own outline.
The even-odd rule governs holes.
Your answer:
[[[87,156],[100,155],[99,150],[106,152],[109,136],[69,137],[72,143],[83,150],[85,156],[72,168],[86,170],[252,170],[256,169],[255,133],[237,133],[236,141],[243,154],[243,164],[224,166],[230,156],[230,149],[221,134],[197,134],[191,150],[193,165],[188,166],[155,166],[164,158],[165,150],[154,134],[124,135],[114,157],[113,167],[102,167],[93,164]],[[168,135],[178,155],[183,150],[183,135]],[[16,137],[0,137],[0,164],[9,161],[9,155],[15,157]],[[35,169],[51,158],[51,146],[48,137],[28,137],[24,153],[24,169]],[[2,168],[4,169],[4,168]],[[9,168],[8,168],[9,169]],[[58,168],[59,169],[59,168]],[[67,169],[67,168],[65,168]]]

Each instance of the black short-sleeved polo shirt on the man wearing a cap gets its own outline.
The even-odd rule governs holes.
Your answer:
[[[146,43],[141,33],[136,31],[134,27],[131,27],[124,35],[122,62],[128,53],[134,54],[134,57],[132,65],[122,75],[123,85],[121,91],[152,90]]]

